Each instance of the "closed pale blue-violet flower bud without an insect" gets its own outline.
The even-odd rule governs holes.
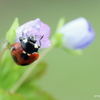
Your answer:
[[[85,18],[73,20],[60,28],[59,33],[64,34],[63,45],[68,49],[83,49],[95,37],[90,23]]]

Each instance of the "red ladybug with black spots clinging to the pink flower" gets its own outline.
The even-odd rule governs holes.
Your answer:
[[[27,38],[19,38],[20,43],[14,43],[11,45],[11,56],[13,60],[21,66],[29,65],[38,59],[38,50],[41,47],[41,38],[39,39],[40,46],[36,44],[36,37],[33,35],[27,36]]]

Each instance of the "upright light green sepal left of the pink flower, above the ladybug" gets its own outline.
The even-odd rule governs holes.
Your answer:
[[[10,44],[14,43],[14,41],[16,39],[16,29],[18,27],[19,27],[18,18],[15,18],[11,28],[6,33],[6,40],[8,41],[8,43],[10,43]]]

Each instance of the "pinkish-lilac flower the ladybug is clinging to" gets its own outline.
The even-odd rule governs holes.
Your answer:
[[[22,36],[22,33],[24,37],[30,35],[36,36],[37,38],[36,43],[38,45],[39,45],[39,39],[41,38],[41,36],[43,36],[43,38],[41,39],[41,44],[42,44],[41,48],[46,48],[51,45],[50,40],[48,39],[50,35],[50,27],[45,23],[43,23],[39,18],[37,18],[36,20],[29,21],[18,27],[16,30],[17,38],[15,42],[20,42],[19,37]]]

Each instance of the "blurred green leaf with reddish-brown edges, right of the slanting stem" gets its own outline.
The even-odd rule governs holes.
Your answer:
[[[17,93],[24,95],[27,100],[55,100],[37,85],[37,81],[46,71],[46,67],[45,62],[40,62],[24,84],[17,90]]]

